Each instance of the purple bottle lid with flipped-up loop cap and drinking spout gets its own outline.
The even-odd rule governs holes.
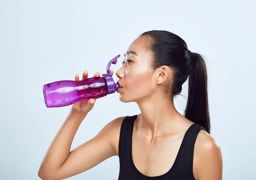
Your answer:
[[[115,83],[113,80],[113,77],[110,73],[110,66],[111,64],[116,64],[117,63],[117,58],[119,58],[120,55],[117,55],[111,61],[109,61],[108,66],[107,66],[107,74],[102,74],[102,76],[106,79],[107,86],[108,86],[108,94],[116,92],[116,90],[119,89],[119,84]]]

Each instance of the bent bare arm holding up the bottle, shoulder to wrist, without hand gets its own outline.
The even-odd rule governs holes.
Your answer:
[[[116,141],[124,117],[109,122],[93,139],[70,152],[73,138],[84,113],[71,110],[44,157],[38,176],[41,179],[60,180],[93,168],[117,154]]]

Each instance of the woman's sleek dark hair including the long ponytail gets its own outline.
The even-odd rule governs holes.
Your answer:
[[[153,70],[163,65],[174,70],[172,98],[180,94],[182,84],[189,78],[188,100],[184,116],[210,133],[207,68],[202,56],[190,52],[186,42],[172,32],[152,30],[144,32],[140,37],[146,40],[145,48],[152,56]]]

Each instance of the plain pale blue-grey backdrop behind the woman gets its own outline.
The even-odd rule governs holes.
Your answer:
[[[106,73],[141,33],[171,31],[206,56],[212,136],[223,153],[223,179],[255,180],[255,3],[231,0],[0,0],[0,179],[36,180],[70,106],[47,108],[43,84]],[[254,11],[254,12],[253,12]],[[122,58],[111,69],[121,67]],[[114,75],[115,80],[118,78]],[[183,95],[187,95],[186,83]],[[175,99],[182,113],[186,99]],[[118,116],[140,113],[119,94],[98,99],[72,149]],[[111,157],[71,180],[116,180]]]

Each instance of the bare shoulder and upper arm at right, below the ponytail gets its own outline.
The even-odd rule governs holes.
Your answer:
[[[203,130],[198,133],[195,142],[193,169],[197,171],[196,179],[222,178],[221,148],[215,139]]]

